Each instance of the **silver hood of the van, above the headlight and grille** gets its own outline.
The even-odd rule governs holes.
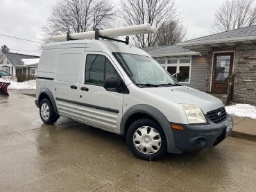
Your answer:
[[[219,98],[184,85],[178,87],[145,87],[141,89],[149,94],[159,96],[165,101],[197,105],[204,114],[223,107],[223,103]]]

